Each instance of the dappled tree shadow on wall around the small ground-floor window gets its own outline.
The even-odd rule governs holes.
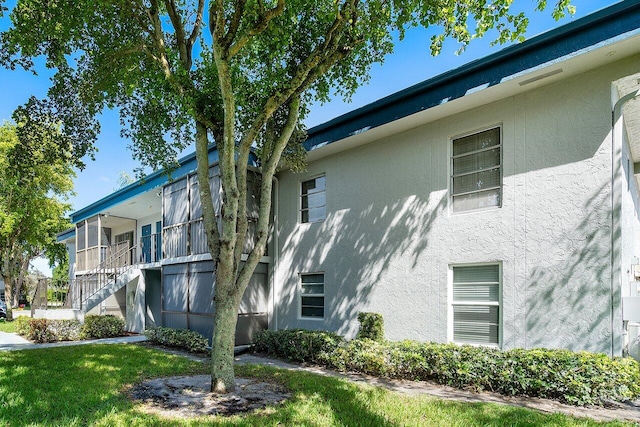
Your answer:
[[[281,243],[281,259],[291,268],[280,273],[279,281],[289,286],[279,296],[279,311],[295,319],[299,295],[297,286],[291,284],[299,281],[299,273],[324,271],[325,322],[308,322],[303,327],[355,334],[357,314],[370,309],[378,286],[389,286],[384,282],[394,277],[402,280],[407,290],[424,286],[418,277],[415,283],[406,283],[406,270],[424,260],[422,255],[431,244],[429,235],[446,204],[444,191],[434,191],[426,200],[403,194],[393,203],[371,202],[360,210],[341,209],[330,212],[321,224],[295,227]],[[388,289],[385,292],[383,295],[389,295]],[[400,300],[411,301],[406,297]]]

